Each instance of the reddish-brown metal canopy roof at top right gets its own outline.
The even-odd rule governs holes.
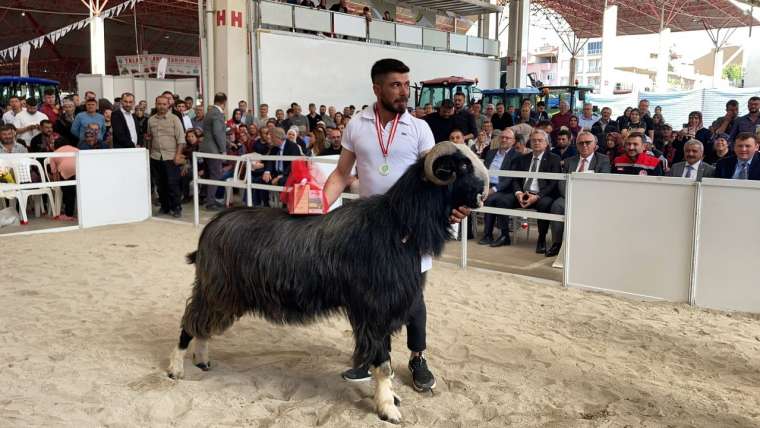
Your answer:
[[[570,24],[578,37],[601,37],[605,0],[535,0]],[[758,4],[757,0],[745,3]],[[660,32],[660,24],[671,31],[746,27],[758,21],[745,15],[729,0],[608,0],[618,6],[618,35]]]

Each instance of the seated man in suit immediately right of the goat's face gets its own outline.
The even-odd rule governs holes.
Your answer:
[[[485,165],[489,171],[508,171],[512,169],[512,162],[520,157],[522,153],[515,150],[515,133],[510,128],[505,129],[499,135],[498,149],[491,149],[486,153]],[[488,189],[488,198],[485,205],[487,207],[493,205],[496,199],[502,198],[498,196],[499,193],[509,192],[512,188],[512,179],[509,177],[498,177],[496,175],[490,176],[490,186]],[[498,218],[499,228],[501,229],[501,237],[494,241],[493,239],[493,227],[494,222]],[[480,240],[481,245],[491,245],[492,247],[498,247],[501,245],[509,245],[509,217],[497,216],[494,214],[486,214],[485,216],[485,234],[483,239]]]

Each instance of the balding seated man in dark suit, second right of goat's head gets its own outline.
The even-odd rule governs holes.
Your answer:
[[[515,171],[559,173],[559,156],[546,150],[549,136],[541,129],[530,134],[531,152],[515,159],[512,169]],[[490,206],[497,208],[535,208],[539,212],[548,213],[554,202],[557,190],[557,180],[537,178],[513,178],[506,192],[497,192],[489,198]],[[536,253],[546,252],[546,233],[549,231],[549,221],[538,220],[538,242]],[[488,232],[488,230],[486,230]],[[501,242],[500,242],[501,241]],[[502,229],[502,235],[494,241],[497,245],[509,245],[508,229]]]

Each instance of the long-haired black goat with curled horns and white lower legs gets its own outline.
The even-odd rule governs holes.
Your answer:
[[[195,284],[169,376],[182,377],[193,338],[194,363],[208,370],[208,339],[245,314],[306,324],[344,312],[356,342],[354,365],[373,367],[377,411],[399,422],[389,378],[391,335],[422,298],[420,260],[443,250],[452,208],[481,206],[487,186],[482,162],[466,146],[446,142],[410,166],[386,194],[324,216],[266,208],[220,213],[188,255]]]

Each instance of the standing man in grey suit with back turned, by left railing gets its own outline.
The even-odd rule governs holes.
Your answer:
[[[227,134],[224,124],[224,108],[227,104],[227,95],[218,92],[214,95],[214,105],[209,108],[206,117],[203,118],[203,142],[200,145],[201,153],[213,153],[221,155],[227,151]],[[203,159],[206,164],[206,173],[209,180],[222,179],[222,160],[221,159]],[[216,201],[216,187],[208,186],[206,189],[206,208],[218,210],[223,207]]]

